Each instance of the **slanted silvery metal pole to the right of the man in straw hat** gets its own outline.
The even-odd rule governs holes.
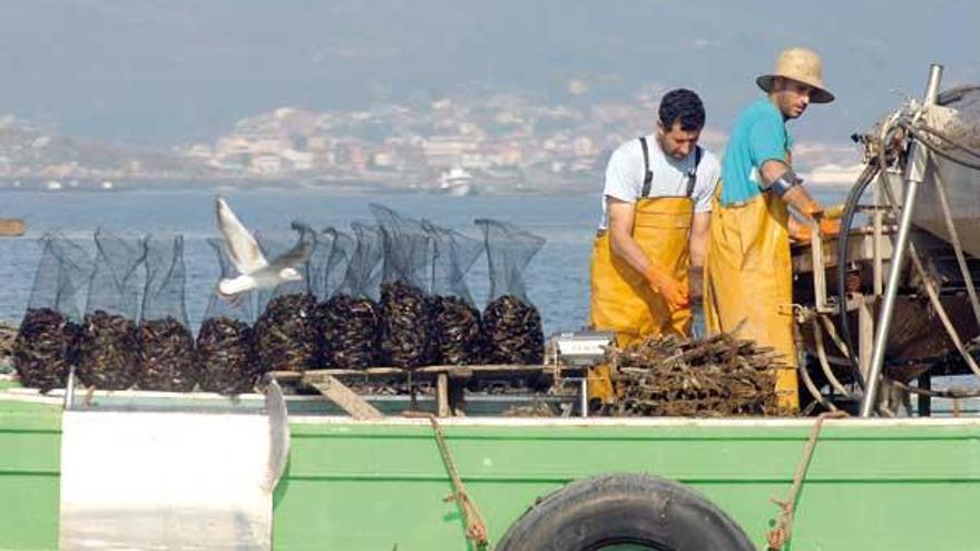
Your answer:
[[[935,104],[939,95],[939,83],[942,79],[942,66],[933,63],[929,68],[929,83],[925,86],[923,106]],[[871,355],[871,366],[868,373],[864,400],[861,402],[861,416],[870,417],[874,410],[878,397],[878,384],[884,364],[884,348],[888,346],[888,335],[892,325],[892,315],[895,307],[895,295],[901,283],[902,264],[909,245],[909,234],[912,229],[912,213],[915,210],[915,195],[919,193],[919,184],[922,183],[925,173],[925,160],[929,151],[913,140],[909,146],[909,160],[905,169],[905,197],[902,200],[902,218],[899,222],[899,235],[892,249],[891,266],[889,266],[888,285],[884,289],[884,299],[881,305],[881,316],[874,334],[874,352]]]

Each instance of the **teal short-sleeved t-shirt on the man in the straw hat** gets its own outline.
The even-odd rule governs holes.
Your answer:
[[[746,201],[761,194],[758,167],[767,160],[785,161],[792,145],[783,116],[768,99],[742,111],[722,161],[722,205]]]

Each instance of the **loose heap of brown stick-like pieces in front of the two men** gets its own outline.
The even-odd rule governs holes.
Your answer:
[[[647,338],[607,358],[621,393],[617,416],[791,415],[776,403],[772,348],[719,334]]]

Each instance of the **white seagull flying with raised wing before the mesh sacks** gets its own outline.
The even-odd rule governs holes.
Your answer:
[[[265,259],[255,237],[245,229],[232,207],[224,197],[215,199],[218,232],[222,234],[222,246],[228,259],[238,270],[237,277],[226,277],[218,282],[218,293],[233,297],[242,293],[275,287],[285,282],[303,279],[296,266],[306,262],[313,252],[312,232],[301,224],[293,223],[293,229],[300,232],[300,240],[290,250],[273,259]]]

